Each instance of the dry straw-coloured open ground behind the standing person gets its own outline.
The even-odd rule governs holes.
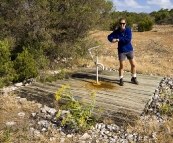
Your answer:
[[[119,68],[117,43],[109,43],[112,31],[92,31],[91,36],[100,43],[99,62],[107,68]],[[173,25],[155,25],[152,31],[132,32],[132,45],[137,63],[137,73],[172,76]],[[94,66],[92,62],[90,66]],[[126,71],[130,71],[129,63]]]

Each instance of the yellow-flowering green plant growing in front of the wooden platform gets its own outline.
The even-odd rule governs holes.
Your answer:
[[[69,112],[63,116],[61,125],[68,125],[73,129],[83,131],[96,123],[96,118],[94,118],[92,114],[95,108],[95,95],[95,92],[90,94],[91,101],[89,104],[86,102],[79,102],[73,97],[70,86],[62,86],[62,88],[56,92],[55,98],[57,101],[63,100],[65,104],[62,105],[61,108]],[[62,110],[56,115],[57,118],[61,116],[61,111]]]

